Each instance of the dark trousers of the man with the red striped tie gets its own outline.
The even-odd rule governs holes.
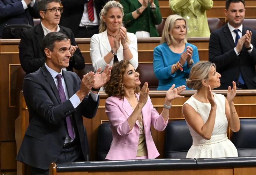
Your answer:
[[[75,34],[75,38],[91,38],[92,35],[99,33],[98,25],[88,25],[83,27],[78,27],[78,30]]]

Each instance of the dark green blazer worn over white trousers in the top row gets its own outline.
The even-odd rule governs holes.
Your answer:
[[[133,15],[131,14],[133,11],[139,8],[139,1],[137,0],[120,0],[120,3],[123,6],[123,23],[127,27],[127,31],[131,33],[137,32],[137,19],[133,18]],[[145,10],[148,11],[148,23],[149,23],[149,30],[150,30],[150,37],[158,37],[159,33],[157,32],[156,26],[162,22],[162,16],[159,9],[159,3],[158,0],[154,0],[154,3],[156,5],[156,10],[152,11],[150,9],[150,5],[148,4],[148,8]]]

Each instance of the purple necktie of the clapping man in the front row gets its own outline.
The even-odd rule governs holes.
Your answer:
[[[67,99],[66,99],[66,95],[65,95],[65,92],[64,92],[64,89],[62,86],[62,82],[61,82],[61,74],[58,74],[56,77],[58,80],[58,92],[60,95],[60,101],[61,101],[61,103],[63,103]],[[70,116],[66,117],[66,122],[67,122],[67,128],[68,128],[68,135],[74,140],[74,132],[73,132]]]

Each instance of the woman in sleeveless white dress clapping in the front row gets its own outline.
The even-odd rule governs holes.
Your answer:
[[[227,97],[212,93],[220,86],[221,75],[214,63],[203,61],[190,71],[187,86],[197,90],[182,108],[193,145],[186,158],[238,157],[234,144],[227,138],[227,127],[240,129],[240,120],[234,106],[236,85],[228,87]]]

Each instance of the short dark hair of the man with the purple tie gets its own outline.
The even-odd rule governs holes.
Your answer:
[[[69,38],[66,34],[61,33],[61,32],[50,32],[42,40],[42,49],[44,52],[44,49],[47,48],[51,51],[53,51],[55,47],[55,42],[59,41],[67,41]]]

